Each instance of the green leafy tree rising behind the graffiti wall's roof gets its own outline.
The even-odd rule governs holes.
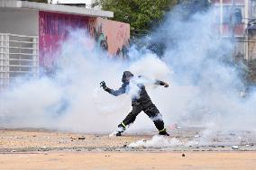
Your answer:
[[[131,30],[150,30],[163,19],[177,0],[100,0],[103,10],[113,11],[114,20],[131,24]]]

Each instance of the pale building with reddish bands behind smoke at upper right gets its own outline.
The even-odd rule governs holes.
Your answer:
[[[233,40],[233,57],[256,58],[256,0],[213,0],[218,30]]]

